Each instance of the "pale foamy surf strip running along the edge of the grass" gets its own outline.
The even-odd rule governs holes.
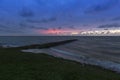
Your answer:
[[[117,73],[120,73],[120,64],[115,63],[113,61],[107,61],[107,60],[99,60],[92,57],[87,57],[84,55],[76,55],[71,52],[66,52],[63,50],[55,49],[55,48],[49,48],[49,49],[28,49],[28,50],[22,50],[22,52],[31,52],[31,53],[44,53],[47,55],[51,55],[58,58],[63,58],[67,60],[73,60],[76,62],[79,62],[81,64],[90,64],[94,66],[98,66],[104,69],[108,69]]]

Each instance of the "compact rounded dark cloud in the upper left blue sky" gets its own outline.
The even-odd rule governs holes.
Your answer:
[[[20,16],[22,16],[22,17],[34,17],[35,13],[33,12],[32,9],[23,7],[22,10],[20,11]]]

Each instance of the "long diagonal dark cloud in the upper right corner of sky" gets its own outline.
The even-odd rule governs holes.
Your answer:
[[[96,4],[91,7],[89,7],[85,13],[91,14],[91,13],[98,13],[98,12],[103,12],[106,10],[109,10],[113,7],[115,7],[118,4],[119,0],[109,0],[107,3],[103,4]]]

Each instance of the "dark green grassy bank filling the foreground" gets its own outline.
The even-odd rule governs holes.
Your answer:
[[[120,74],[45,54],[1,48],[0,80],[120,80]]]

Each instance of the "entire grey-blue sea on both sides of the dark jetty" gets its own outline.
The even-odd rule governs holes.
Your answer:
[[[70,39],[77,41],[50,48],[53,56],[66,56],[65,59],[71,57],[71,60],[77,59],[76,61],[120,73],[120,36],[1,36],[0,47],[18,47]]]

